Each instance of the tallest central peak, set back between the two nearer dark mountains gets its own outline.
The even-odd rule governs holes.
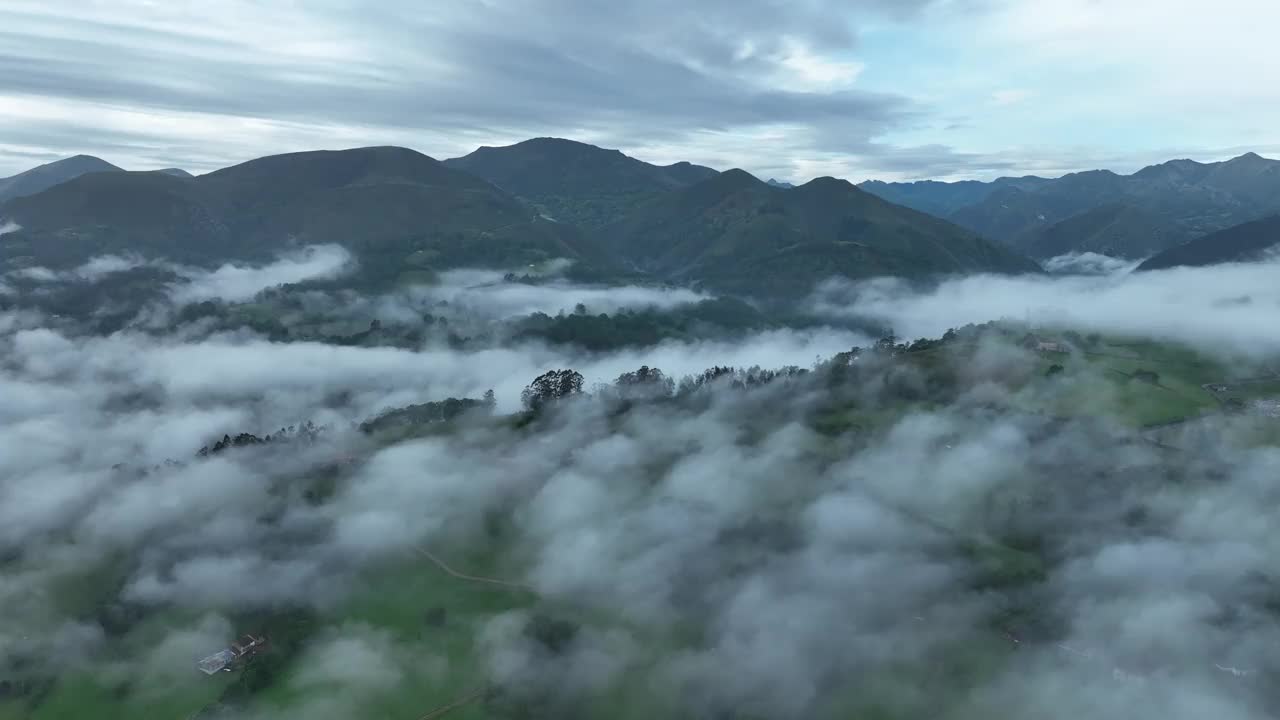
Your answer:
[[[598,228],[645,200],[716,176],[690,163],[650,165],[594,145],[539,137],[444,161],[534,204],[563,223]]]

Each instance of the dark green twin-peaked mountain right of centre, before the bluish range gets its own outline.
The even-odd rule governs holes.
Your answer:
[[[801,296],[831,275],[1039,272],[969,231],[846,181],[783,191],[739,169],[654,197],[599,234],[632,266],[664,279],[774,297]]]

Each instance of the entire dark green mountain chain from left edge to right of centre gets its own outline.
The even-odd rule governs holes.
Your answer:
[[[742,170],[658,167],[539,138],[438,163],[401,147],[296,152],[200,177],[74,177],[0,205],[8,270],[61,270],[99,255],[216,266],[305,245],[355,259],[314,287],[384,291],[454,268],[550,259],[593,282],[678,282],[795,299],[832,275],[1037,272],[947,222],[844,181],[783,190]],[[56,311],[56,310],[55,310]]]

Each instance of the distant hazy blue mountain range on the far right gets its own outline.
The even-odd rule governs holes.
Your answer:
[[[1042,247],[1089,249],[1098,242],[1094,231],[1123,206],[1128,214],[1120,224],[1137,240],[1115,249],[1142,258],[1280,211],[1280,161],[1249,152],[1222,163],[1170,160],[1132,176],[1089,170],[1056,179],[867,182],[861,187],[1036,258],[1046,256]],[[1082,234],[1073,241],[1069,233],[1078,231]],[[1046,241],[1046,236],[1053,240]]]

